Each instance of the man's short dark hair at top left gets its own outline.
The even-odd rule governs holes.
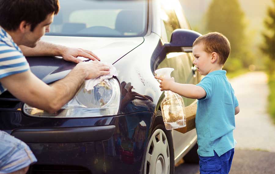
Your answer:
[[[58,0],[0,0],[0,26],[14,31],[25,20],[33,31],[49,14],[58,11]]]

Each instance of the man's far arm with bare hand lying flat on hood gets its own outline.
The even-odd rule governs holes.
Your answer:
[[[69,48],[67,46],[57,45],[53,43],[38,41],[34,48],[20,45],[24,56],[34,57],[34,56],[62,56],[65,61],[72,61],[75,63],[81,62],[77,57],[86,57],[91,60],[100,59],[92,51],[83,50],[81,48]]]

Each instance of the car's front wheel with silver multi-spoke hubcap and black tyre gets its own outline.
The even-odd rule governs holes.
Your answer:
[[[158,124],[152,131],[145,155],[144,174],[174,174],[174,146],[171,131]]]

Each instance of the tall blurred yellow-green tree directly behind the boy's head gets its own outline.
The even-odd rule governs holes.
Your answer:
[[[245,35],[244,12],[238,0],[212,0],[206,12],[207,32],[217,31],[225,35],[231,45],[231,53],[225,69],[233,71],[251,64]]]

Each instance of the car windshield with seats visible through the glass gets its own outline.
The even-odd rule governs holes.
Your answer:
[[[147,32],[147,0],[60,0],[50,25],[59,36],[137,37]]]

